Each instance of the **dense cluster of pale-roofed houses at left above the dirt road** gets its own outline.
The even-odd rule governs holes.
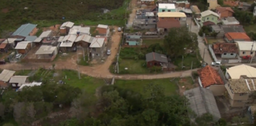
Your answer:
[[[77,46],[88,49],[88,54],[92,57],[104,55],[110,35],[107,25],[99,24],[94,31],[96,36],[91,36],[90,27],[77,26],[70,21],[57,29],[60,36],[53,34],[54,31],[50,29],[37,37],[36,24],[23,24],[7,39],[1,39],[0,50],[7,52],[12,48],[17,54],[26,55],[32,48],[37,47],[33,58],[50,59],[49,61],[53,61],[58,52],[76,51]]]

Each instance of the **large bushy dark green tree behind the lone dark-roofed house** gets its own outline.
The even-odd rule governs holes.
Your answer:
[[[191,50],[198,48],[198,36],[185,27],[171,28],[164,37],[164,48],[171,57],[182,56],[186,52],[184,48]]]

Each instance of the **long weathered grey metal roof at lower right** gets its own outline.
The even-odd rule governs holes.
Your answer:
[[[189,99],[190,104],[188,106],[198,116],[204,113],[210,113],[213,115],[214,120],[220,119],[220,111],[216,105],[212,91],[203,87],[196,87],[185,91],[184,95]]]

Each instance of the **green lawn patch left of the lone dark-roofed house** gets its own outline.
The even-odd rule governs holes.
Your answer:
[[[145,67],[145,60],[122,59],[119,63],[119,74],[145,74],[149,69]],[[111,69],[114,65],[111,65]],[[127,68],[127,69],[125,69]]]

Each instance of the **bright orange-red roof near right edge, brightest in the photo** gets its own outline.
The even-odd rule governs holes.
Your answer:
[[[243,32],[228,32],[225,34],[228,40],[232,39],[244,39],[245,41],[250,41],[250,37],[247,35],[247,33]]]

